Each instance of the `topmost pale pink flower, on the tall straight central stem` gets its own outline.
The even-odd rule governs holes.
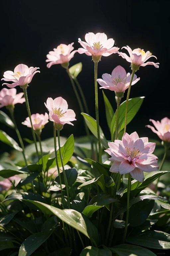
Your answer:
[[[113,38],[108,39],[105,33],[91,33],[85,35],[86,42],[78,39],[83,48],[78,49],[78,53],[85,53],[88,56],[109,56],[112,53],[117,53],[119,48],[113,47],[115,41]]]

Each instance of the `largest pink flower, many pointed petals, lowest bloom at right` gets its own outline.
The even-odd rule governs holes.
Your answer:
[[[155,143],[148,142],[147,137],[139,138],[136,132],[125,133],[122,140],[108,143],[105,151],[111,155],[109,160],[115,161],[111,172],[130,173],[133,179],[143,182],[143,172],[158,170],[157,157],[153,155]]]

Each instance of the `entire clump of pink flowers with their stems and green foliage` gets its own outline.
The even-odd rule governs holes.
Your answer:
[[[114,40],[104,33],[88,33],[85,40],[79,39],[83,48],[74,51],[73,43],[60,44],[46,60],[48,68],[61,64],[68,73],[80,106],[79,117],[68,109],[65,99],[53,99],[52,95],[45,103],[49,113],[30,112],[27,89],[32,90],[28,83],[34,83],[33,76],[40,72],[37,68],[20,64],[14,72],[4,73],[3,80],[13,82],[4,85],[19,85],[17,89],[23,92],[17,94],[15,88],[0,91],[0,108],[6,107],[11,116],[0,111],[0,121],[15,129],[18,136],[16,142],[0,130],[0,141],[13,148],[0,158],[1,255],[154,256],[170,249],[169,170],[162,169],[170,148],[170,120],[151,120],[157,131],[148,125],[162,143],[150,142],[147,135],[140,138],[136,131],[128,134],[127,127],[144,99],[129,98],[131,85],[140,83],[135,72],[145,65],[158,68],[159,63],[144,63],[155,56],[139,48],[132,51],[125,47],[130,57],[118,52]],[[69,67],[77,52],[94,60],[95,118],[90,116],[77,80],[82,64]],[[103,79],[97,79],[99,60],[113,53],[131,63],[131,75],[117,66],[112,75],[103,74]],[[111,132],[108,140],[100,127],[99,85],[109,89],[117,103],[114,112],[103,92]],[[123,100],[126,89],[127,99]],[[15,122],[15,108],[21,105],[16,104],[22,103],[23,107],[24,102],[28,114],[22,120],[23,129],[31,129],[33,135],[33,140],[26,139],[27,145]],[[84,121],[87,135],[63,137],[62,129],[74,125],[76,118]],[[51,125],[50,138],[41,141],[46,125]]]

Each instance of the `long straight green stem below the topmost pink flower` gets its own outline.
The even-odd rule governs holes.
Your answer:
[[[97,123],[97,137],[99,146],[99,163],[102,163],[102,148],[100,141],[100,130],[99,130],[99,108],[98,108],[98,88],[97,88],[97,65],[98,62],[94,62],[94,84],[95,84],[95,103],[96,103],[96,123]]]

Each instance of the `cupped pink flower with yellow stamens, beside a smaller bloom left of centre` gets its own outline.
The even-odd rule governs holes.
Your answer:
[[[45,103],[44,103],[45,104]],[[48,98],[45,104],[49,111],[49,120],[57,124],[71,124],[70,121],[75,121],[75,113],[72,109],[68,109],[66,100],[62,97],[57,97],[54,100]]]

